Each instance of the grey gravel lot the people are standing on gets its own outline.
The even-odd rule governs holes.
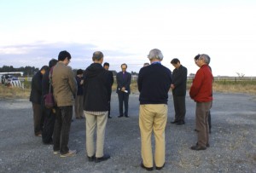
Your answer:
[[[140,168],[138,95],[130,97],[130,118],[117,118],[117,95],[112,95],[105,152],[111,159],[90,163],[85,153],[84,119],[74,119],[69,147],[73,158],[53,155],[52,146],[33,136],[32,105],[27,100],[0,99],[0,172],[147,172]],[[187,96],[186,124],[170,124],[172,95],[166,125],[166,167],[155,172],[256,172],[256,96],[214,93],[210,147],[189,149],[196,142],[195,102]],[[154,145],[153,145],[154,146]]]

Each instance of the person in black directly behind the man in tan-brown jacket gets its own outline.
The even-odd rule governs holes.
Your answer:
[[[51,87],[50,92],[53,93],[52,85],[50,83],[50,69],[56,65],[58,61],[52,59],[49,61],[49,70],[47,70],[42,79],[42,116],[44,118],[44,126],[42,132],[42,141],[44,144],[52,144],[52,135],[55,126],[55,108],[47,108],[44,103],[44,95],[49,93],[49,87]]]

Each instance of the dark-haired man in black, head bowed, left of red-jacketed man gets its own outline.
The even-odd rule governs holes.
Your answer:
[[[180,64],[177,58],[171,61],[175,69],[172,72],[172,96],[175,110],[175,119],[172,124],[183,125],[185,124],[184,118],[186,114],[186,90],[187,90],[187,75],[188,70],[185,66]]]

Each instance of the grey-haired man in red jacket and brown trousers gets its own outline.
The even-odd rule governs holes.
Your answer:
[[[202,54],[196,61],[200,69],[196,72],[189,95],[196,102],[195,124],[198,130],[197,143],[192,150],[205,150],[209,147],[208,114],[212,107],[212,72],[208,64],[210,57]]]

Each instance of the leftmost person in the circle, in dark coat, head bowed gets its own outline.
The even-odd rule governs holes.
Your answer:
[[[44,73],[48,70],[48,66],[42,66],[32,77],[31,93],[29,101],[32,102],[34,134],[35,136],[42,136],[42,129],[44,118],[42,118],[41,101],[42,101],[42,78]]]

